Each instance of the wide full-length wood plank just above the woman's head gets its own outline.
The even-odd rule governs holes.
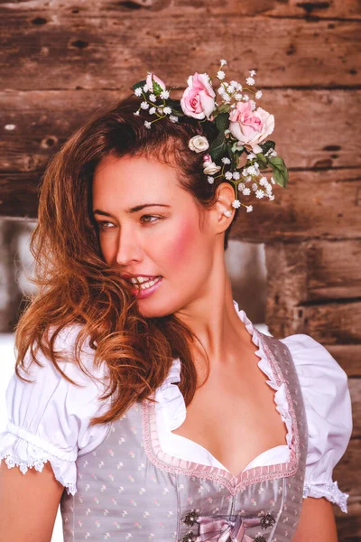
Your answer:
[[[277,14],[281,3],[274,2],[268,3],[271,10],[278,4],[272,18],[264,16],[262,3],[254,3],[258,7],[245,17],[247,7],[236,1],[228,10],[223,3],[216,9],[217,3],[199,8],[189,2],[185,11],[179,3],[172,8],[165,3],[160,11],[127,9],[122,2],[75,9],[57,4],[1,7],[3,88],[125,89],[147,70],[169,86],[184,86],[196,70],[215,75],[218,59],[225,57],[229,79],[243,82],[248,70],[257,70],[259,89],[361,84],[359,21],[301,23],[294,10],[285,14],[284,5],[283,15]],[[261,15],[253,15],[258,9]]]

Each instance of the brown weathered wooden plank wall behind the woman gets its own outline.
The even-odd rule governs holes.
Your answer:
[[[267,323],[304,332],[347,371],[354,433],[335,470],[340,542],[361,540],[361,6],[356,0],[18,0],[0,5],[0,215],[36,217],[51,154],[147,70],[257,71],[276,119],[287,189],[240,213],[233,238],[264,242]],[[174,96],[177,96],[174,94]]]

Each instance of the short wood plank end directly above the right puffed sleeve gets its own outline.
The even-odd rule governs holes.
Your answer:
[[[335,261],[331,264],[332,250]],[[276,337],[307,333],[323,344],[361,343],[360,277],[355,268],[358,251],[356,241],[342,241],[339,245],[316,240],[300,245],[266,245],[266,322],[270,332]],[[324,270],[325,266],[329,271]],[[350,285],[353,297],[337,286],[342,279]],[[312,285],[321,281],[324,287],[312,291]]]

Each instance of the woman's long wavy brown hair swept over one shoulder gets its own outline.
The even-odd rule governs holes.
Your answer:
[[[214,125],[190,117],[180,117],[174,123],[167,117],[149,129],[144,126],[144,119],[150,120],[148,115],[142,110],[139,116],[134,115],[140,101],[128,96],[97,112],[52,156],[42,178],[38,222],[30,241],[35,262],[32,281],[39,288],[29,295],[15,329],[15,371],[19,378],[23,378],[19,367],[26,371],[27,351],[31,362],[42,365],[36,359],[40,348],[60,374],[78,386],[60,369],[58,362],[64,360],[64,352],[54,346],[60,333],[79,324],[74,360],[95,378],[81,364],[80,350],[87,342],[94,350],[95,369],[103,361],[108,368],[108,388],[100,398],[112,396],[106,414],[93,417],[90,425],[109,423],[122,416],[134,401],[151,398],[166,378],[172,359],[180,359],[180,391],[186,405],[197,388],[190,344],[198,338],[174,314],[144,318],[139,313],[129,283],[102,257],[91,211],[93,174],[110,154],[143,155],[170,164],[199,210],[215,202],[219,182],[207,182],[202,154],[190,151],[188,146],[193,135],[206,135],[211,142],[217,135]],[[225,232],[225,249],[229,229]]]

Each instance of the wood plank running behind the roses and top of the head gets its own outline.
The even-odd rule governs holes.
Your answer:
[[[42,167],[93,111],[130,94],[132,90],[125,87],[121,93],[111,90],[0,92],[1,145],[6,156],[6,162],[4,158],[0,162],[0,170],[29,171]],[[182,91],[174,92],[178,98],[181,94]],[[290,169],[361,166],[358,152],[361,90],[269,89],[264,91],[259,104],[276,119],[270,138],[276,141],[276,150]],[[14,129],[6,130],[9,125],[14,125]]]

